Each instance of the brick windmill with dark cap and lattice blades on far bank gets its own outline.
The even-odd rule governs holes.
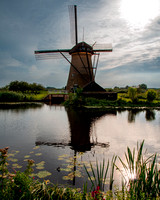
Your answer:
[[[77,6],[69,6],[70,24],[72,39],[74,46],[71,49],[56,49],[56,50],[37,50],[35,51],[36,59],[50,59],[56,58],[57,53],[62,55],[70,64],[70,71],[66,90],[68,92],[74,91],[74,88],[84,88],[90,83],[95,84],[95,75],[99,61],[100,52],[111,52],[112,46],[110,44],[92,46],[82,41],[78,43],[78,28],[77,28]],[[96,48],[97,47],[97,48]],[[71,56],[71,61],[68,59]],[[92,59],[92,57],[94,57]],[[96,84],[97,86],[98,84]],[[99,86],[99,88],[101,88]],[[103,90],[103,89],[102,89]]]

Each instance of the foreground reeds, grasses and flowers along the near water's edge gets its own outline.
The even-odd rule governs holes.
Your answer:
[[[83,188],[71,188],[54,185],[49,180],[36,180],[33,174],[34,160],[28,160],[24,172],[16,171],[8,164],[9,147],[0,149],[0,199],[3,200],[145,200],[160,199],[160,170],[157,154],[149,157],[143,151],[144,141],[137,143],[137,148],[127,147],[125,159],[113,156],[112,160],[96,162],[95,168],[90,162],[90,169],[84,165],[87,180]],[[117,161],[121,166],[117,166]],[[114,185],[114,172],[119,170],[123,181],[119,187]]]

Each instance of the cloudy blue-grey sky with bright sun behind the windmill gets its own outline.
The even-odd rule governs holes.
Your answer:
[[[69,63],[36,60],[34,51],[73,47],[68,5],[77,5],[78,42],[112,44],[100,55],[98,84],[160,88],[160,0],[1,0],[0,87],[66,86]]]

